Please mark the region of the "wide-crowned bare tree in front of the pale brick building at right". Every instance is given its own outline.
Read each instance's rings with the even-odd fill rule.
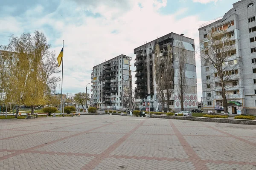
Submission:
[[[227,99],[229,98],[227,89],[233,87],[230,80],[238,74],[237,68],[239,63],[241,64],[239,57],[233,57],[236,54],[236,40],[233,36],[233,32],[210,31],[207,33],[207,37],[200,41],[201,60],[203,59],[206,65],[212,67],[215,71],[214,77],[219,78],[215,84],[221,87],[219,94],[222,96],[225,113],[227,113]]]

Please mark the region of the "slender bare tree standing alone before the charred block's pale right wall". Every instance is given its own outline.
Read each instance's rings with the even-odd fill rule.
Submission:
[[[177,42],[177,49],[175,51],[175,57],[177,61],[177,92],[178,98],[180,99],[181,110],[184,110],[184,101],[187,90],[187,81],[186,81],[186,50],[183,45],[183,42]]]

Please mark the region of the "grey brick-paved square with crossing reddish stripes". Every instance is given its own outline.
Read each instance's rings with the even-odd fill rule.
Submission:
[[[114,115],[0,120],[0,170],[256,170],[256,126]]]

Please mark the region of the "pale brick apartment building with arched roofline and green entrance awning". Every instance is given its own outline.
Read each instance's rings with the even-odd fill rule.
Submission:
[[[230,114],[255,114],[256,111],[256,0],[240,0],[223,17],[200,26],[201,75],[204,110],[223,113],[221,80],[217,70],[204,57],[209,33],[223,32],[233,49],[223,62],[227,111]],[[209,48],[207,46],[207,48]]]

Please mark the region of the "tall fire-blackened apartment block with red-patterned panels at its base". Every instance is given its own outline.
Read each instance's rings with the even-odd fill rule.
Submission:
[[[151,111],[161,111],[162,105],[160,104],[159,95],[157,95],[157,84],[155,81],[154,73],[154,54],[155,47],[159,44],[161,55],[166,54],[168,51],[167,46],[171,47],[172,54],[172,66],[174,69],[173,89],[169,100],[169,109],[172,111],[181,111],[180,99],[178,97],[177,85],[178,85],[178,60],[177,50],[178,42],[182,42],[184,50],[186,50],[186,70],[185,77],[187,81],[186,94],[184,96],[184,110],[191,110],[197,108],[197,80],[196,80],[196,67],[195,67],[195,43],[194,40],[188,37],[184,37],[183,34],[169,33],[163,37],[159,37],[156,40],[147,42],[140,47],[134,49],[136,54],[136,74],[135,74],[135,105],[137,109],[145,110],[150,107]],[[164,109],[167,110],[167,96],[164,97]],[[149,106],[147,106],[149,104]],[[169,110],[168,109],[168,110]]]

